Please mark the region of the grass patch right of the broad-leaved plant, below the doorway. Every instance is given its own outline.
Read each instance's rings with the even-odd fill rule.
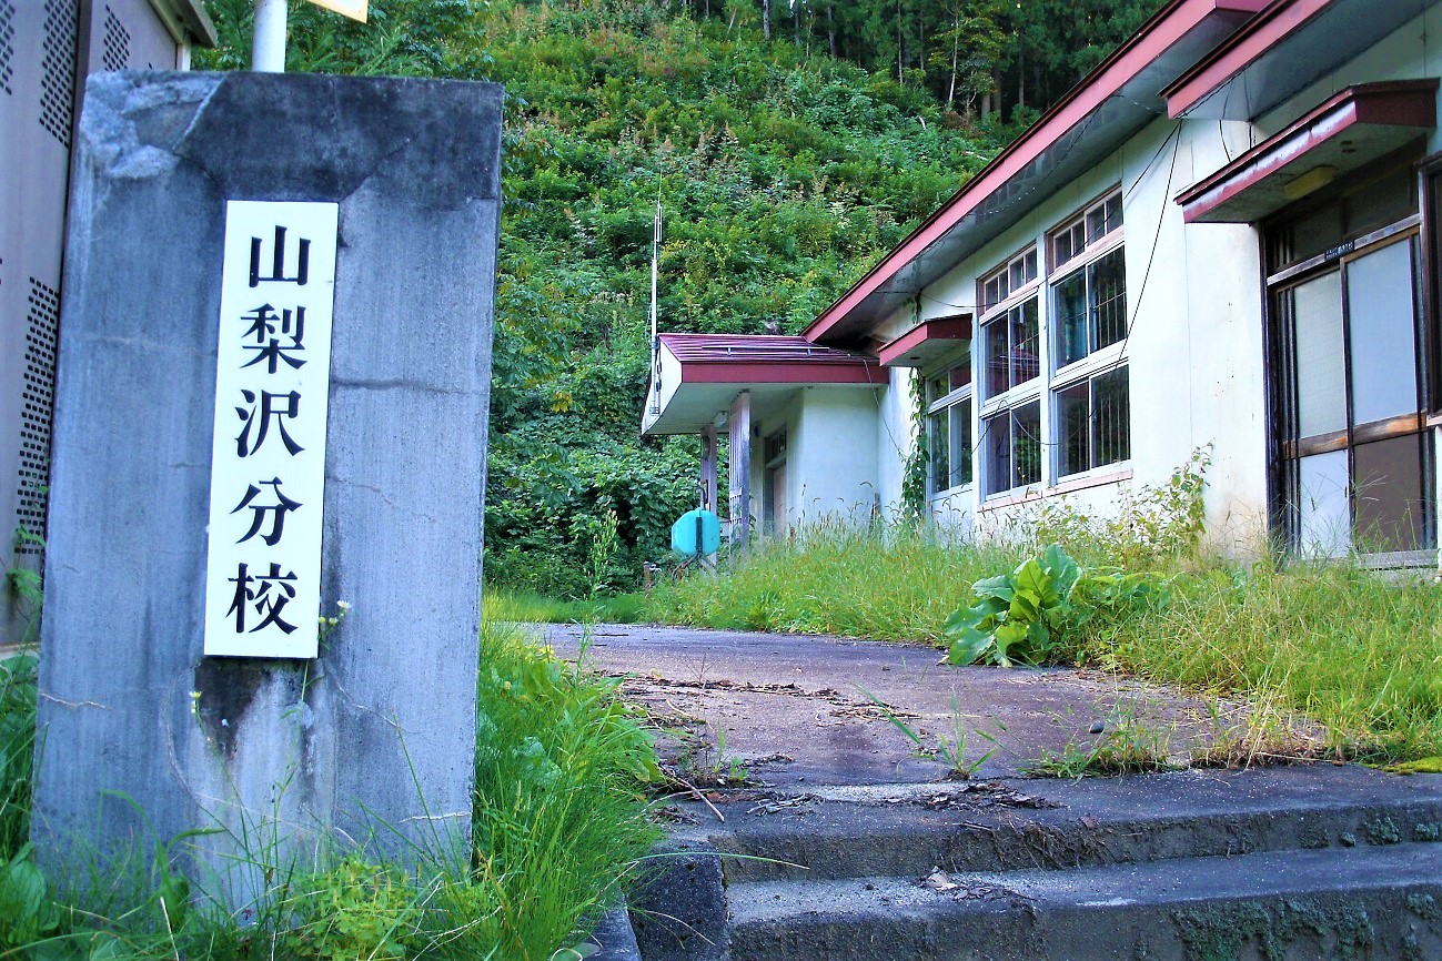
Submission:
[[[1363,759],[1442,754],[1442,586],[1348,563],[1207,560],[1076,654],[1302,712]]]

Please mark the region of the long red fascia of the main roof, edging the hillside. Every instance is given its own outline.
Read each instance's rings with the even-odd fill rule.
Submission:
[[[989,164],[943,203],[897,248],[872,267],[865,277],[813,320],[802,336],[818,340],[862,300],[891,280],[926,248],[970,213],[982,200],[999,190],[1027,164],[1060,140],[1067,131],[1122,89],[1128,81],[1155,61],[1172,43],[1195,29],[1208,14],[1227,10],[1256,13],[1268,0],[1172,0],[1142,29],[1071,88],[1035,124],[1002,150]]]

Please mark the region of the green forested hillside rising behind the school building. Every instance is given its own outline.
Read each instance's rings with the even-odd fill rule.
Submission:
[[[658,199],[663,330],[795,331],[1156,6],[293,10],[291,69],[506,86],[487,579],[629,586],[694,506],[696,442],[639,438]],[[212,0],[222,48],[202,65],[245,66],[249,7]]]

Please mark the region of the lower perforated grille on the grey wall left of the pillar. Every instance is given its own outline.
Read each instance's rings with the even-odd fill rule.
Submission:
[[[55,344],[61,294],[30,278],[30,316],[25,334],[25,390],[20,411],[20,475],[16,523],[45,536],[49,500],[50,415],[55,411]],[[19,553],[40,553],[42,543],[23,543]]]

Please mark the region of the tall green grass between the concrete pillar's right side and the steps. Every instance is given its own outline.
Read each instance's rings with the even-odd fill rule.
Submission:
[[[551,957],[659,837],[639,785],[660,771],[617,683],[535,650],[518,628],[486,631],[476,852],[477,880],[503,905],[502,957]]]

